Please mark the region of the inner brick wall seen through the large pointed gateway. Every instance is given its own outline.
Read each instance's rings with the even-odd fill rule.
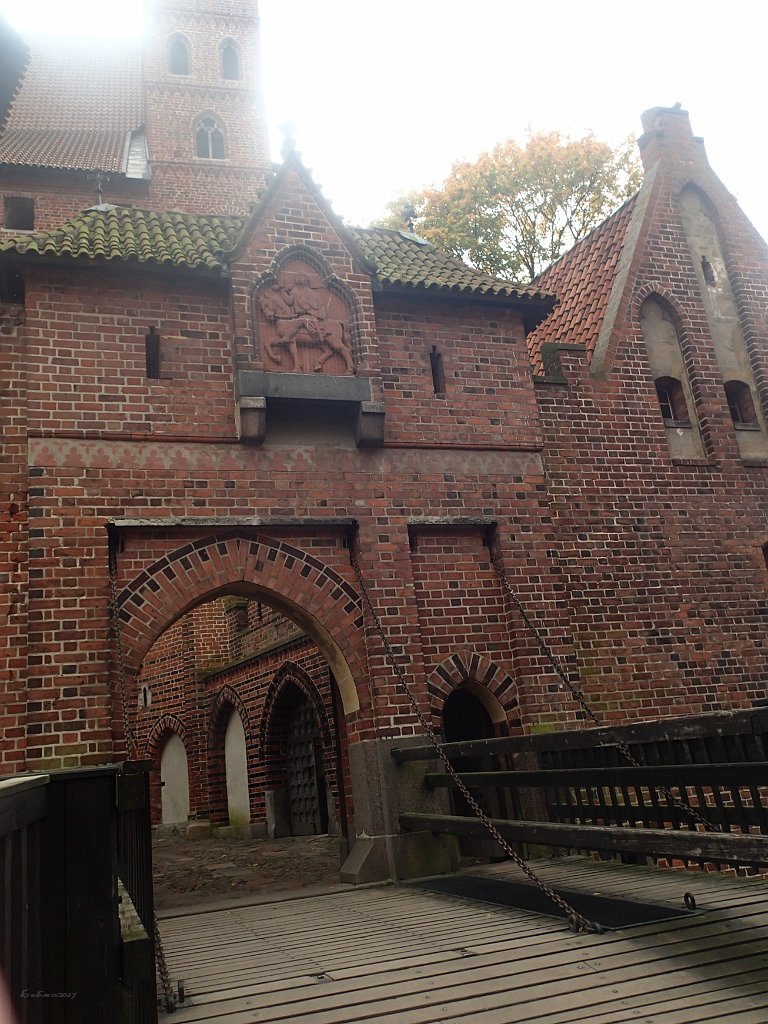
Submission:
[[[275,692],[280,692],[275,680],[281,671],[288,671],[288,665],[295,666],[295,671],[288,671],[289,678],[304,680],[308,692],[316,695],[326,773],[338,809],[337,743],[344,745],[344,730],[342,724],[337,738],[328,664],[310,640],[303,634],[296,635],[290,620],[263,605],[259,618],[257,602],[249,602],[254,625],[246,633],[247,640],[244,642],[242,635],[227,634],[226,605],[230,600],[199,605],[166,630],[148,651],[138,677],[135,712],[140,753],[153,758],[159,770],[165,741],[171,732],[180,734],[187,751],[190,811],[199,817],[210,816],[219,824],[226,823],[222,742],[224,718],[234,695],[234,707],[244,717],[249,738],[251,817],[253,822],[263,823],[264,791],[286,784],[281,768],[285,760],[284,737],[272,707]],[[281,640],[281,646],[274,649],[272,645]],[[267,649],[259,653],[262,647]],[[142,700],[144,688],[146,706]],[[154,811],[159,820],[157,785],[156,790]],[[346,790],[349,799],[348,784]]]

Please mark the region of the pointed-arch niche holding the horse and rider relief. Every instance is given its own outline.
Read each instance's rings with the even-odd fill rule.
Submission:
[[[351,296],[322,257],[291,247],[257,282],[254,340],[266,372],[354,374]]]

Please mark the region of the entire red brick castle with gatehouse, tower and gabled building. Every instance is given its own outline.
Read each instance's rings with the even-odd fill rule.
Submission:
[[[159,819],[407,864],[352,558],[449,738],[582,721],[497,565],[604,721],[764,703],[768,252],[687,114],[518,286],[270,163],[255,0],[148,18],[0,28],[4,771],[148,757]]]

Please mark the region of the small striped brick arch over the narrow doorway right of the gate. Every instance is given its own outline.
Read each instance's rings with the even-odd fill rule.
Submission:
[[[447,697],[460,686],[480,700],[495,724],[519,725],[517,685],[496,662],[472,650],[460,650],[438,665],[427,679],[429,702],[436,718],[440,717]]]

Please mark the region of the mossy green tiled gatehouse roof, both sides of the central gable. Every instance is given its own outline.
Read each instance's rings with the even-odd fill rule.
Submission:
[[[138,260],[179,267],[223,269],[245,226],[241,217],[190,213],[153,213],[104,204],[51,231],[25,231],[2,239],[0,253],[78,256],[84,259]],[[413,236],[384,228],[348,228],[349,236],[385,285],[408,285],[459,292],[528,298],[539,305],[552,297],[489,278],[444,256]]]

